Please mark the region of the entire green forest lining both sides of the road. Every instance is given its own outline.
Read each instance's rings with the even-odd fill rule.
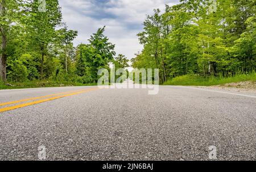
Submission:
[[[74,46],[79,33],[63,22],[57,0],[47,0],[44,12],[39,1],[0,2],[0,83],[96,84],[97,71],[109,68],[109,62],[115,68],[129,67],[125,55],[116,54],[104,36],[105,27],[88,44]],[[161,84],[187,75],[255,74],[255,3],[180,0],[164,11],[155,9],[138,33],[143,50],[131,59],[132,67],[159,68]]]

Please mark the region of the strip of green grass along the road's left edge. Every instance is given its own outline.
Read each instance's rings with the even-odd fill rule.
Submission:
[[[4,84],[0,80],[0,89],[20,89],[20,88],[42,88],[42,87],[68,87],[68,86],[89,86],[96,84],[82,84],[72,83],[70,81],[51,81],[51,80],[36,80],[26,81],[23,83],[7,82],[8,85]],[[9,85],[10,84],[10,85]]]

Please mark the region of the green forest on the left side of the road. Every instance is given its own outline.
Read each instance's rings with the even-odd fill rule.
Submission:
[[[1,0],[2,82],[93,84],[98,69],[108,68],[109,62],[119,68],[129,66],[124,55],[115,54],[115,45],[104,36],[105,27],[89,38],[89,44],[74,46],[78,32],[63,22],[59,2],[47,0],[43,12],[39,6],[39,1]]]

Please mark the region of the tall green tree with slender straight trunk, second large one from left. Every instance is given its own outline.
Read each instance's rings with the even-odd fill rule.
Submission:
[[[26,22],[27,35],[30,38],[30,46],[40,51],[40,75],[44,78],[44,62],[48,54],[49,46],[54,42],[57,36],[55,28],[61,25],[61,10],[57,0],[48,0],[46,3],[46,12],[38,11],[38,1],[33,1],[28,7],[28,20]]]

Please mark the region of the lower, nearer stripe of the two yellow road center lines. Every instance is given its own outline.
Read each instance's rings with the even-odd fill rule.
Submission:
[[[98,88],[96,88],[96,89],[88,89],[88,90],[86,90],[86,91],[81,91],[81,92],[75,92],[75,93],[65,94],[65,95],[63,95],[63,96],[51,97],[51,98],[47,98],[47,99],[44,99],[44,100],[28,102],[28,103],[26,103],[26,104],[20,104],[20,105],[16,105],[16,106],[10,106],[10,107],[7,107],[7,108],[2,108],[2,109],[0,109],[0,113],[3,112],[3,111],[9,111],[9,110],[14,110],[14,109],[18,109],[18,108],[23,108],[23,107],[26,107],[26,106],[31,106],[31,105],[35,105],[35,104],[40,104],[40,103],[47,102],[47,101],[51,101],[51,100],[55,100],[55,99],[58,99],[58,98],[73,96],[73,95],[76,95],[76,94],[86,93],[86,92],[89,92],[89,91],[95,91],[95,90],[97,90],[97,89],[98,89]]]

